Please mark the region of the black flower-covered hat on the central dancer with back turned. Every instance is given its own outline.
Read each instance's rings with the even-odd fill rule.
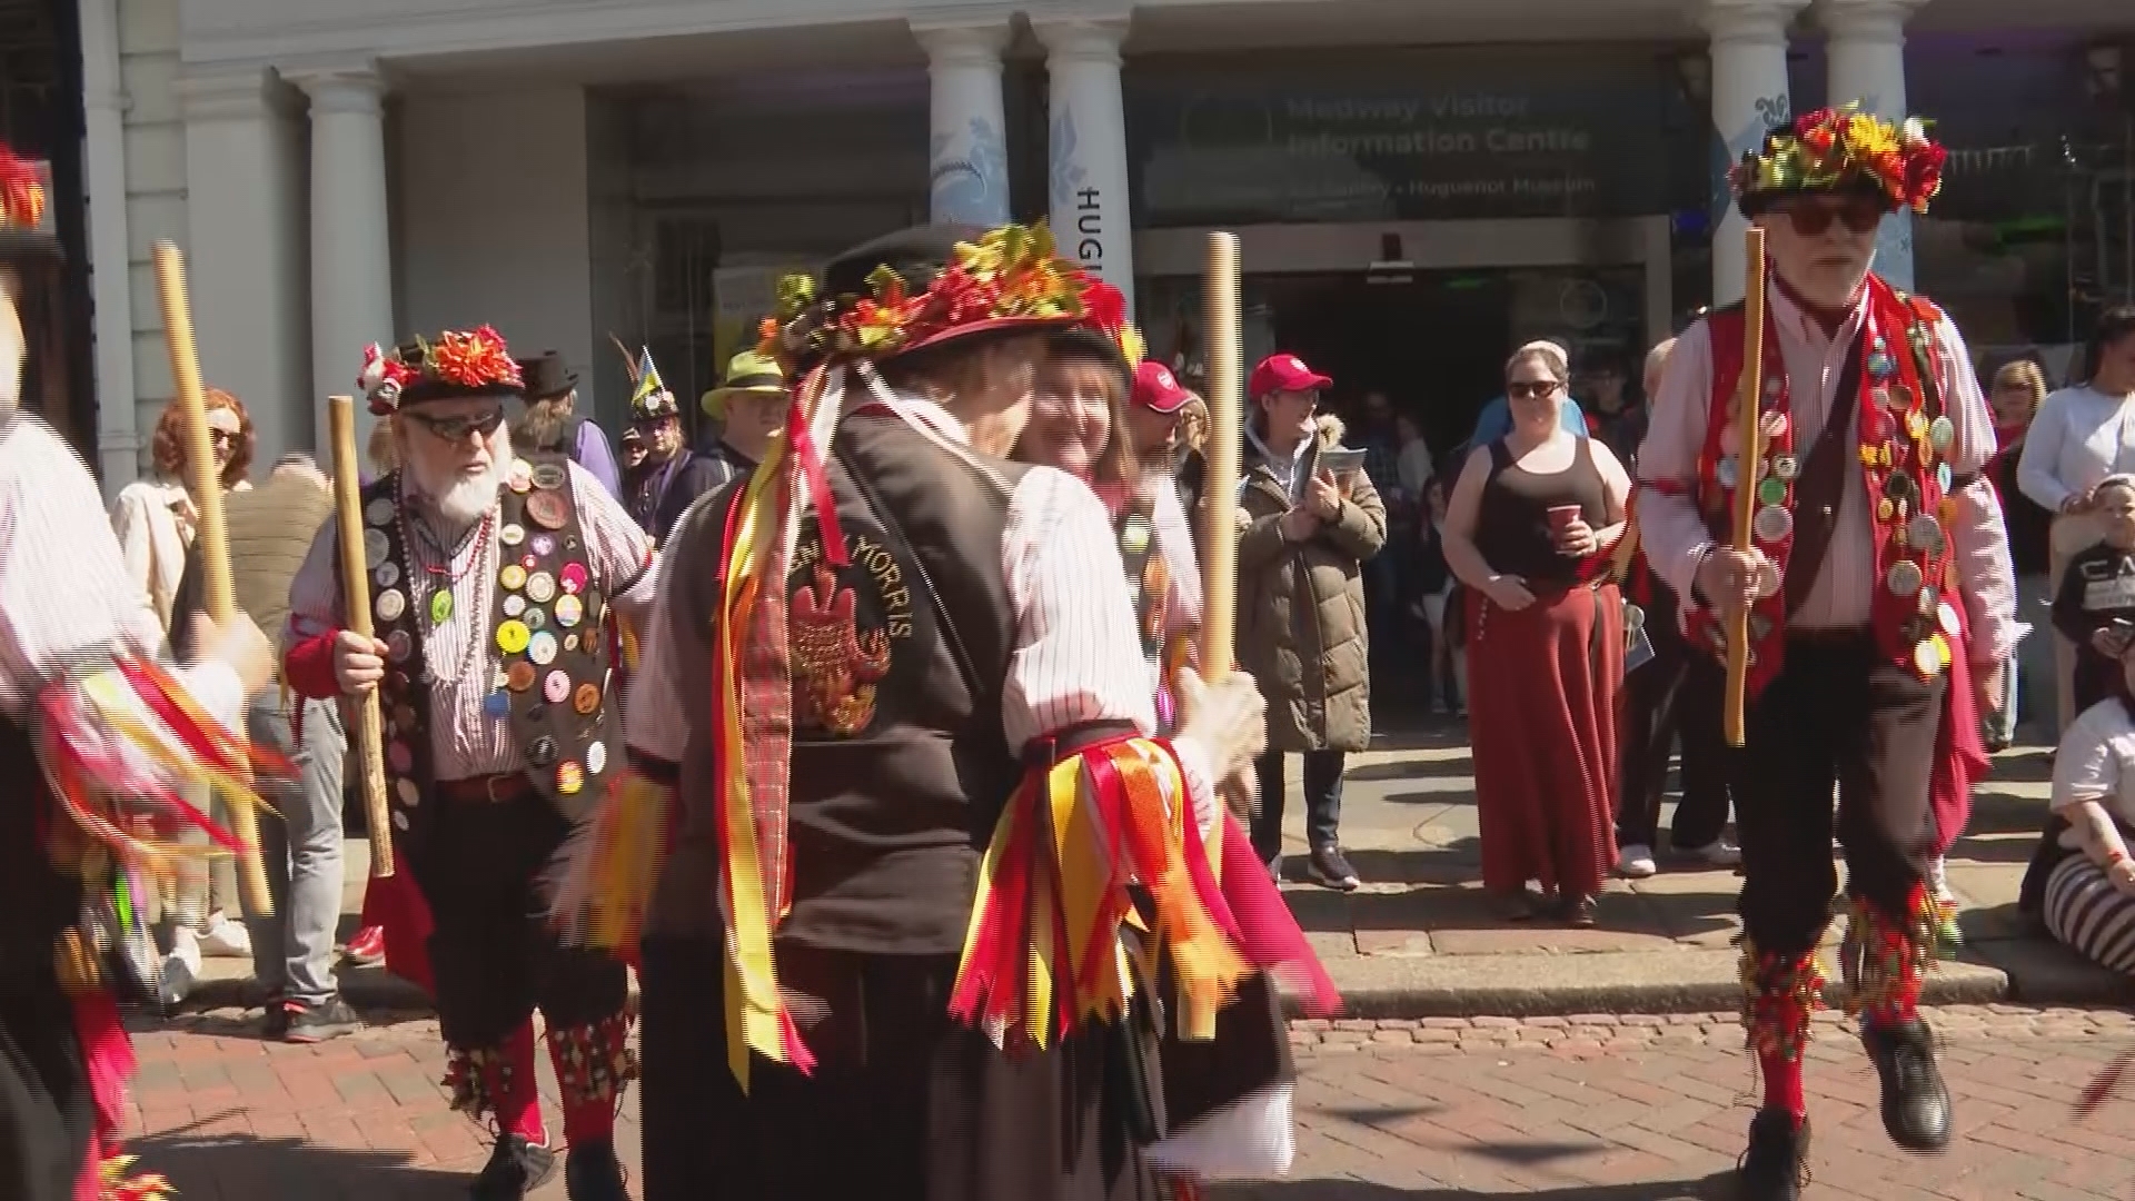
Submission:
[[[824,271],[779,280],[758,350],[792,365],[890,361],[982,333],[1076,323],[1117,329],[1125,297],[1059,259],[1044,227],[924,224],[856,246]]]

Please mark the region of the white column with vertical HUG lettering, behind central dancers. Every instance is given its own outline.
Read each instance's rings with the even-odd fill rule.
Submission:
[[[1134,227],[1127,209],[1127,109],[1119,92],[1125,19],[1033,21],[1053,77],[1053,233],[1061,252],[1127,297],[1134,314]]]

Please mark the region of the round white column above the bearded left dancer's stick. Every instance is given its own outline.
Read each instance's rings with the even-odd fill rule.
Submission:
[[[325,430],[327,397],[354,391],[363,346],[393,344],[384,79],[365,64],[297,83],[312,96],[312,402]]]

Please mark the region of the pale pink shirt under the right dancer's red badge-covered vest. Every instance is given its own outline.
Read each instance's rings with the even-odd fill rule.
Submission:
[[[1868,318],[1868,297],[1862,295],[1836,336],[1828,336],[1823,325],[1802,312],[1778,286],[1768,291],[1768,308],[1791,385],[1796,451],[1806,455],[1817,434],[1823,432],[1838,389],[1851,383],[1845,378],[1845,359]],[[1904,353],[1902,331],[1885,331],[1885,338],[1892,340],[1894,353]],[[1949,385],[1943,395],[1943,412],[1956,425],[1947,453],[1949,470],[1973,474],[1994,455],[1994,417],[1988,410],[1986,393],[1979,391],[1964,338],[1947,316],[1934,325],[1934,353],[1943,361],[1943,378]],[[1695,498],[1699,487],[1697,459],[1706,444],[1710,410],[1712,329],[1706,321],[1697,321],[1676,342],[1676,353],[1667,357],[1667,372],[1652,397],[1646,442],[1638,453],[1638,477],[1642,485],[1648,485],[1638,498],[1640,539],[1646,560],[1678,596],[1691,596],[1697,564],[1714,545]],[[1655,483],[1665,487],[1650,487]],[[1998,662],[2015,650],[2020,635],[2009,532],[1986,481],[1973,481],[1971,487],[1960,489],[1956,504],[1958,513],[1949,524],[1949,539],[1960,590],[1973,620],[1973,658]],[[1823,568],[1791,624],[1802,628],[1866,626],[1877,588],[1883,588],[1883,579],[1875,564],[1868,485],[1855,468],[1845,472],[1845,489]]]

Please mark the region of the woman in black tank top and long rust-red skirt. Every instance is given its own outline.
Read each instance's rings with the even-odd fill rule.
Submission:
[[[1512,434],[1477,447],[1445,515],[1445,562],[1467,586],[1469,737],[1484,889],[1505,917],[1544,906],[1593,925],[1614,863],[1623,600],[1608,558],[1631,481],[1601,442],[1556,419],[1567,361],[1529,344],[1505,363]]]

